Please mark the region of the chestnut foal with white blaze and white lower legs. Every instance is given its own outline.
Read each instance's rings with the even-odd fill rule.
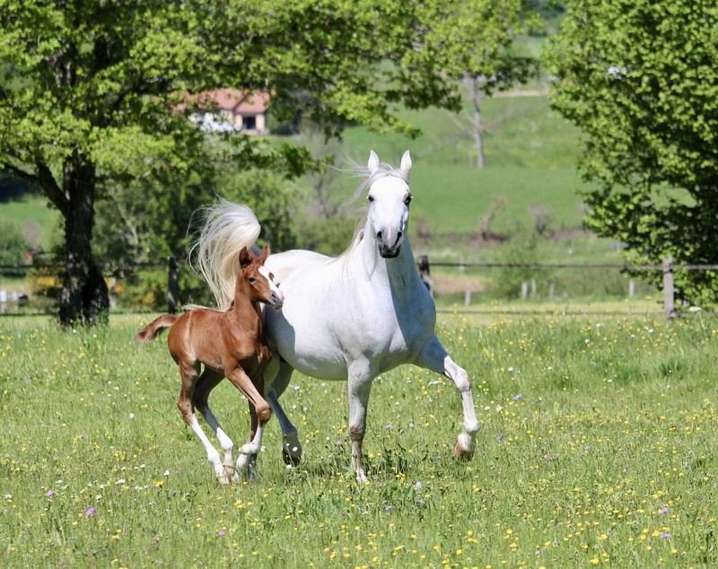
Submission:
[[[251,257],[246,247],[241,249],[241,268],[234,286],[234,301],[227,311],[196,307],[181,316],[165,314],[136,335],[140,344],[146,344],[163,328],[171,328],[167,345],[175,363],[180,366],[182,376],[177,407],[205,446],[207,459],[215,468],[221,484],[231,481],[229,473],[233,468],[234,443],[207,405],[210,392],[226,377],[249,400],[250,437],[240,449],[236,464],[238,471],[246,468],[250,455],[259,451],[262,429],[271,416],[264,398],[264,371],[272,354],[264,337],[259,302],[280,309],[284,295],[272,281],[274,276],[264,267],[268,255],[268,247],[258,258]],[[201,364],[205,369],[200,374]],[[199,409],[219,439],[224,451],[223,462],[199,426],[195,408]],[[237,479],[235,473],[232,481]]]

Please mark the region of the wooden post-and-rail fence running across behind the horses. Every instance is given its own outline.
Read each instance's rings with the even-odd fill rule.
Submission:
[[[595,264],[595,265],[578,265],[573,263],[474,263],[465,261],[439,261],[430,262],[429,258],[422,255],[418,258],[416,263],[419,274],[422,280],[425,282],[427,288],[432,291],[432,278],[431,268],[432,267],[453,267],[458,268],[460,273],[463,273],[466,269],[482,269],[482,268],[517,268],[517,269],[531,269],[531,270],[556,270],[556,269],[574,269],[574,270],[615,270],[618,272],[661,272],[663,275],[663,310],[667,318],[673,318],[675,316],[674,304],[675,304],[675,286],[674,286],[674,274],[676,271],[718,271],[718,264],[675,264],[672,259],[665,258],[661,265],[617,265],[617,264]],[[167,300],[168,310],[171,313],[175,313],[178,310],[179,298],[180,298],[180,287],[179,287],[179,272],[180,263],[176,258],[168,258],[167,261],[158,263],[121,263],[121,264],[103,264],[101,268],[106,272],[113,275],[117,275],[123,270],[136,270],[136,269],[147,269],[147,268],[167,268]],[[0,274],[15,273],[18,271],[28,272],[33,269],[39,268],[53,268],[62,269],[64,265],[61,263],[48,263],[44,265],[0,265]],[[112,297],[112,289],[114,285],[114,277],[110,278],[110,300]],[[632,295],[633,282],[629,281],[629,296]],[[535,290],[535,284],[532,287]],[[529,291],[529,284],[524,283],[522,285],[522,296],[527,297]],[[433,292],[433,291],[432,291]],[[7,293],[0,290],[0,309],[6,307],[8,300]],[[470,291],[467,290],[465,303],[470,302]]]

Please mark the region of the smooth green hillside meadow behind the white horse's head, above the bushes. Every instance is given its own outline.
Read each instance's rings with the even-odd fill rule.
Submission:
[[[468,106],[468,102],[466,103]],[[409,149],[414,160],[411,231],[419,222],[433,235],[473,234],[495,198],[506,206],[493,231],[515,234],[533,229],[530,206],[541,205],[553,217],[552,229],[582,226],[583,188],[575,171],[578,131],[548,107],[546,97],[493,98],[484,101],[486,168],[477,169],[471,136],[461,132],[448,112],[403,111],[401,118],[421,128],[416,140],[377,134],[362,127],[345,136],[347,156],[365,162],[369,150],[385,162],[398,163]],[[355,180],[343,177],[335,196],[350,195]]]

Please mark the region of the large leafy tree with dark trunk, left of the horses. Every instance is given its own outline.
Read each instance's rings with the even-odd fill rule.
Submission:
[[[60,321],[107,312],[92,240],[109,182],[189,176],[201,162],[202,134],[173,110],[187,93],[272,92],[276,118],[301,102],[328,135],[347,121],[407,130],[399,102],[458,106],[432,59],[427,15],[440,14],[403,0],[0,0],[0,169],[65,220]],[[248,168],[306,165],[288,147],[239,144]]]

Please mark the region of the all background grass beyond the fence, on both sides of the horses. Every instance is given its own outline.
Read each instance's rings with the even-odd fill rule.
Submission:
[[[540,87],[540,85],[538,85]],[[468,106],[468,102],[466,103]],[[401,118],[422,130],[415,140],[397,134],[377,134],[362,127],[346,131],[342,153],[365,162],[370,149],[381,159],[396,164],[407,148],[414,158],[411,185],[412,202],[410,232],[414,253],[428,255],[436,262],[478,263],[571,263],[620,264],[621,256],[615,243],[600,240],[581,232],[582,200],[576,192],[582,188],[575,164],[578,132],[558,117],[548,106],[545,96],[497,97],[484,101],[486,124],[486,168],[477,169],[471,136],[462,132],[449,113],[438,109],[401,111]],[[341,175],[334,189],[334,199],[343,202],[350,197],[357,180]],[[477,241],[480,220],[486,218],[496,200],[504,206],[495,215],[491,231],[512,237],[522,243],[534,230],[536,208],[550,217],[549,232],[553,239],[541,239],[528,258],[517,258],[515,250],[495,242]],[[0,219],[26,223],[36,219],[43,228],[43,244],[48,249],[57,228],[57,213],[46,206],[42,197],[0,205]],[[351,222],[348,222],[351,223]],[[428,233],[418,239],[417,230]],[[351,227],[347,228],[347,236]],[[54,237],[58,241],[57,232]],[[348,237],[347,237],[348,239]],[[524,253],[523,257],[527,257]],[[437,301],[443,304],[460,302],[467,286],[479,293],[495,289],[496,271],[467,273],[461,283],[456,271],[435,267]],[[617,272],[609,276],[593,273],[588,276],[571,269],[562,275],[537,274],[542,280],[540,294],[547,297],[549,280],[558,297],[604,297],[617,299],[627,292],[627,281]],[[532,278],[534,276],[530,276]],[[558,279],[557,282],[556,278]],[[467,280],[468,279],[468,280]],[[446,284],[446,286],[444,286]],[[0,286],[10,291],[28,292],[22,279],[0,278]],[[512,285],[508,296],[517,297],[521,282]],[[647,290],[644,286],[642,292]],[[504,292],[475,297],[475,302],[507,298]],[[122,299],[120,299],[122,302]]]

